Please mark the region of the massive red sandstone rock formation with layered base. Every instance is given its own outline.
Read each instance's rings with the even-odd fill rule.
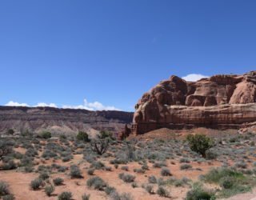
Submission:
[[[135,109],[134,134],[162,127],[239,128],[256,122],[256,71],[198,82],[171,76],[143,94]]]

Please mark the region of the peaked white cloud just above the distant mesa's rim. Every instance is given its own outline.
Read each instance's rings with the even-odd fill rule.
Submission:
[[[86,98],[82,105],[78,106],[62,106],[62,108],[86,109],[86,110],[120,110],[114,106],[104,106],[101,102],[88,102]]]

